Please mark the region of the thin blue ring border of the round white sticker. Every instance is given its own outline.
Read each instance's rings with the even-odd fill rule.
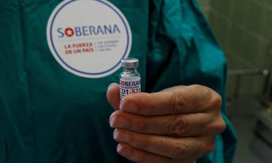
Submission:
[[[53,23],[54,23],[54,20],[57,16],[57,14],[61,11],[62,8],[64,8],[66,5],[68,5],[69,3],[71,2],[74,2],[74,1],[78,1],[78,0],[71,0],[67,3],[65,3],[64,5],[62,5],[58,10],[57,12],[55,13],[54,17],[53,17],[53,20],[52,20],[52,23],[51,23],[51,26],[50,26],[50,40],[51,40],[51,43],[52,43],[52,46],[53,46],[53,49],[55,51],[55,53],[57,54],[58,58],[61,60],[62,63],[64,63],[67,67],[69,67],[70,69],[72,69],[73,71],[76,71],[76,72],[79,72],[79,73],[82,73],[82,74],[86,74],[86,75],[100,75],[100,74],[105,74],[109,71],[112,71],[114,68],[116,68],[120,63],[121,63],[121,60],[126,56],[126,53],[127,53],[127,50],[128,50],[128,46],[129,46],[129,33],[128,33],[128,29],[127,29],[127,24],[125,23],[125,21],[123,20],[122,16],[116,11],[116,9],[114,9],[111,5],[107,4],[106,2],[103,2],[101,0],[94,0],[94,1],[97,1],[97,2],[101,2],[105,5],[107,5],[108,7],[110,7],[114,12],[117,13],[117,15],[121,18],[121,20],[123,21],[123,24],[125,25],[125,28],[126,28],[126,32],[127,32],[127,47],[126,47],[126,50],[125,50],[125,53],[124,55],[122,56],[122,58],[119,60],[119,62],[113,66],[112,68],[110,68],[109,70],[107,71],[103,71],[103,72],[99,72],[99,73],[88,73],[88,72],[83,72],[83,71],[79,71],[79,70],[76,70],[75,68],[69,66],[66,62],[64,62],[64,60],[61,58],[61,56],[57,53],[57,50],[54,46],[54,43],[53,43],[53,39],[52,39],[52,28],[53,28]]]

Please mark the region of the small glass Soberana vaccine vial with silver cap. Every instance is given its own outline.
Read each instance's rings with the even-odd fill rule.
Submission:
[[[124,58],[121,60],[121,66],[124,68],[120,74],[120,98],[131,94],[141,92],[141,76],[137,71],[139,60],[136,58]]]

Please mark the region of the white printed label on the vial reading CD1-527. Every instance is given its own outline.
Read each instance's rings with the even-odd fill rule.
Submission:
[[[120,98],[131,94],[131,93],[140,93],[141,92],[141,78],[124,80],[120,79]]]

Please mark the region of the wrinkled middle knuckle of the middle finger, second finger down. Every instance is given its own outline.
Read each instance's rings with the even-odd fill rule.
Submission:
[[[188,130],[189,130],[189,126],[186,121],[186,118],[181,115],[175,116],[174,121],[171,121],[169,123],[169,129],[168,129],[169,135],[183,136],[184,134],[188,132]]]

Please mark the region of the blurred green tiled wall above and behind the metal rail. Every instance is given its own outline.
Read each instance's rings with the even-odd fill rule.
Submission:
[[[197,0],[228,59],[229,69],[268,69],[272,61],[272,0]],[[272,49],[272,47],[271,47]],[[245,76],[241,95],[263,91],[263,76]],[[228,94],[235,78],[229,76]]]

